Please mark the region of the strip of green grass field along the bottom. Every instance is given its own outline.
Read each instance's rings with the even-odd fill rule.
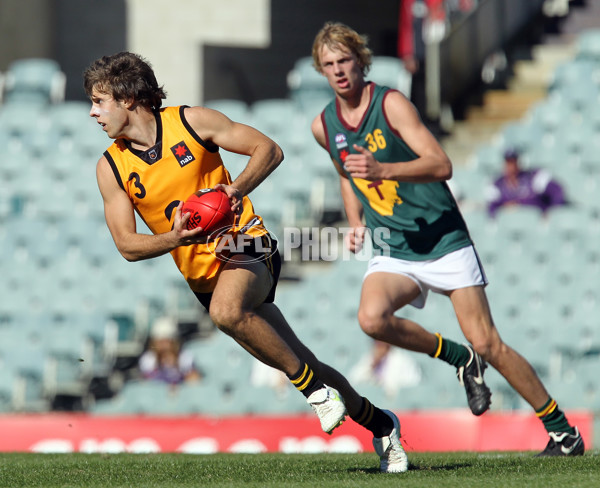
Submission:
[[[598,487],[600,453],[412,453],[403,474],[375,454],[0,454],[2,487]]]

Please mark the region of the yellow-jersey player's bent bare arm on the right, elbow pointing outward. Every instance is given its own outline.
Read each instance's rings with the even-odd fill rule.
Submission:
[[[233,188],[222,188],[232,200],[233,210],[238,209],[241,197],[252,192],[283,161],[283,151],[273,140],[216,110],[190,107],[185,110],[185,117],[202,139],[226,151],[250,156],[246,168],[232,182]]]

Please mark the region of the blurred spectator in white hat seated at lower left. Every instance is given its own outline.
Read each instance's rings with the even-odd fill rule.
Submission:
[[[152,325],[150,344],[140,357],[139,369],[146,379],[172,385],[198,381],[202,377],[193,356],[181,350],[177,323],[169,317],[161,317]]]

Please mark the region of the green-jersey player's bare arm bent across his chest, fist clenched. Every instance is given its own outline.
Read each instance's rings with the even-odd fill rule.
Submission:
[[[411,183],[448,180],[452,176],[450,159],[425,127],[412,103],[400,92],[392,92],[385,99],[384,109],[390,125],[419,157],[409,162],[382,164],[367,148],[355,145],[357,152],[346,158],[344,166],[352,177]]]

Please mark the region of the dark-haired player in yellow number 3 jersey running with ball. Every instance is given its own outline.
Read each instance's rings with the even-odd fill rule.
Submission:
[[[273,303],[281,261],[248,194],[281,163],[279,146],[256,129],[204,107],[161,108],[165,92],[150,65],[132,53],[94,61],[84,73],[90,116],[114,143],[96,168],[106,223],[128,261],[171,253],[217,327],[249,353],[284,372],[331,433],[346,414],[373,433],[380,470],[403,472],[408,460],[397,417],[361,397],[302,344]],[[249,156],[231,181],[219,149]],[[202,228],[187,230],[182,203],[203,188],[229,197],[236,230],[255,245],[222,260]],[[153,235],[137,232],[135,212]],[[339,394],[338,394],[339,392]],[[341,396],[341,398],[340,398]],[[343,400],[342,400],[343,399]]]

